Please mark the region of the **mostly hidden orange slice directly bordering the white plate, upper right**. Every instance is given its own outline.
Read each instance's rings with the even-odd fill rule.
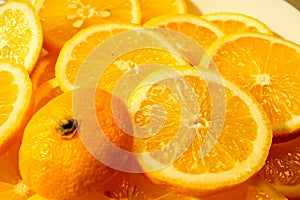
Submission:
[[[226,35],[237,32],[273,34],[270,28],[260,20],[240,13],[217,12],[201,17],[216,24]]]

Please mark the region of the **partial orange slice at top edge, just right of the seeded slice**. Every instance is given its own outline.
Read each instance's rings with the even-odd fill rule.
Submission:
[[[187,13],[187,5],[184,0],[139,0],[139,2],[142,12],[142,24],[161,15]]]

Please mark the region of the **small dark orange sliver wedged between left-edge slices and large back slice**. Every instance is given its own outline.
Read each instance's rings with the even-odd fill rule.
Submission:
[[[42,83],[55,77],[55,63],[57,55],[47,54],[36,63],[30,78],[35,91]]]

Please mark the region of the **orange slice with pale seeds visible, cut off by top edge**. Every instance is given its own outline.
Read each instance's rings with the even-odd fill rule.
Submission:
[[[37,0],[45,48],[58,51],[78,31],[107,22],[139,24],[140,5],[137,0],[70,1]]]

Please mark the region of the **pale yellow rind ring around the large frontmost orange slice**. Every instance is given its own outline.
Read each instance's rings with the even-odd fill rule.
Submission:
[[[154,80],[157,81],[160,78],[164,79],[165,73],[159,74],[160,75],[155,76]],[[188,74],[193,74],[193,71],[184,72],[184,75]],[[220,77],[217,74],[209,71],[201,72],[201,75],[206,77],[206,81],[216,83],[216,80],[220,80]],[[159,76],[161,77],[159,78]],[[264,122],[261,123],[261,126],[258,126],[257,138],[253,143],[254,148],[252,154],[247,160],[240,163],[239,166],[234,169],[221,173],[205,173],[198,175],[180,172],[175,169],[173,165],[165,166],[150,154],[140,154],[138,156],[138,161],[147,176],[154,182],[168,185],[182,193],[208,195],[243,183],[263,167],[272,143],[271,124],[266,113],[263,112],[263,108],[257,104],[251,94],[240,90],[237,86],[224,79],[222,79],[222,83],[217,83],[223,84],[226,88],[230,89],[233,95],[237,95],[247,105],[251,105],[250,110],[253,114],[253,119],[257,124]],[[134,96],[138,93],[139,92],[134,93],[130,99],[136,99]],[[139,105],[139,103],[133,104]]]

